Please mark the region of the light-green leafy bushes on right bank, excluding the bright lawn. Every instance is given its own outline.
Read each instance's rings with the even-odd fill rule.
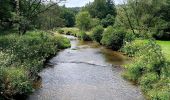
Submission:
[[[135,50],[133,46],[132,49]],[[138,51],[135,51],[134,59],[126,66],[126,69],[123,76],[139,83],[148,99],[168,100],[170,98],[169,65],[160,46],[153,40],[145,42]]]

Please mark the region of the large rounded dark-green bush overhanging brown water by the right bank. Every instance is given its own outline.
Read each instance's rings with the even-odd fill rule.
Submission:
[[[109,26],[103,33],[101,43],[113,50],[119,50],[124,44],[125,34],[122,29]]]

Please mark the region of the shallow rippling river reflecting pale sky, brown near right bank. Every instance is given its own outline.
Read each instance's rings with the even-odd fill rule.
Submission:
[[[28,100],[144,100],[140,89],[121,77],[121,53],[92,42],[71,40],[44,69],[41,87]]]

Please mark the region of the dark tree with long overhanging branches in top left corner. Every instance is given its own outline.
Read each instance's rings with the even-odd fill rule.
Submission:
[[[10,23],[18,26],[19,33],[24,34],[34,23],[38,15],[65,0],[1,0],[0,24]]]

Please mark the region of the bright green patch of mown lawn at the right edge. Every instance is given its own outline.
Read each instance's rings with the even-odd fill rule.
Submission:
[[[157,43],[162,47],[162,52],[168,61],[170,61],[170,41],[157,41]]]

